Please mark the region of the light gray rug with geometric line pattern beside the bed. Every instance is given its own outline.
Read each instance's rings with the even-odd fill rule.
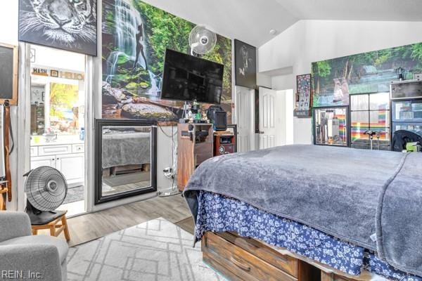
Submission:
[[[192,246],[193,235],[157,218],[70,248],[68,280],[224,280]]]

